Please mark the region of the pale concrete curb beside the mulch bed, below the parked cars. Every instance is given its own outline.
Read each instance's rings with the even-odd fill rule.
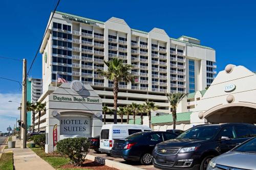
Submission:
[[[133,169],[133,170],[142,170],[142,168],[140,168],[140,167],[127,165],[127,164],[124,164],[124,163],[112,161],[112,160],[109,160],[109,159],[105,159],[105,158],[101,158],[101,157],[93,156],[93,155],[89,155],[89,154],[86,156],[86,159],[98,162],[100,164],[104,164],[104,165],[109,166],[109,167],[114,167],[114,168],[117,168],[117,169],[120,169],[120,170],[131,170],[131,169]]]

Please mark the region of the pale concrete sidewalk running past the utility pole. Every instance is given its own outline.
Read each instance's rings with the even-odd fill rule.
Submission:
[[[15,170],[55,170],[45,160],[37,156],[31,149],[21,149],[20,140],[12,137],[16,141],[16,148],[6,149],[5,152],[13,151],[13,162]]]

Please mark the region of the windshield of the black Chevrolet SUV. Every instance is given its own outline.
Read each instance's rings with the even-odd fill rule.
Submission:
[[[219,131],[219,127],[195,127],[180,134],[177,139],[201,139],[209,140]]]

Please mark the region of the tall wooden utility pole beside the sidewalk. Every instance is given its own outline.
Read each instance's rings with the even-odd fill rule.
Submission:
[[[21,148],[27,148],[27,60],[23,59]]]

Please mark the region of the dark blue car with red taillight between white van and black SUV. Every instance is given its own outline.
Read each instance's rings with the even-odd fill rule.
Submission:
[[[152,151],[159,142],[174,139],[170,132],[139,132],[123,139],[115,140],[111,156],[126,161],[140,161],[143,165],[152,164]]]

